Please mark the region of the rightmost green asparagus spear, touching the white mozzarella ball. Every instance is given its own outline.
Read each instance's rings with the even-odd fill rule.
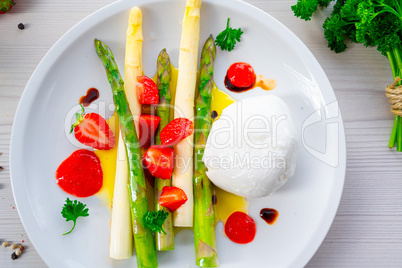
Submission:
[[[212,184],[202,162],[205,143],[211,125],[211,94],[214,86],[215,42],[212,35],[201,52],[200,83],[196,100],[195,162],[194,162],[194,246],[196,264],[201,267],[219,266],[215,241],[215,213],[212,204]]]

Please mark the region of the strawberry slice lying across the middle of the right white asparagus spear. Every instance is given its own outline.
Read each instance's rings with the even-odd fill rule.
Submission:
[[[176,145],[194,132],[194,124],[187,118],[176,118],[166,125],[161,131],[162,145]]]

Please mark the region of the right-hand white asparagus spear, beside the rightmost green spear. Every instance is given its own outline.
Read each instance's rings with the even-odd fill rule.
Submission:
[[[186,3],[175,98],[175,118],[185,117],[192,121],[194,121],[201,2],[201,0],[187,0]],[[175,146],[172,183],[173,186],[183,189],[188,198],[187,202],[173,214],[175,226],[193,226],[193,140],[194,135],[191,135]]]

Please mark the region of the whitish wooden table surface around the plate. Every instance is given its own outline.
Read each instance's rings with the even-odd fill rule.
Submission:
[[[15,0],[0,15],[0,241],[26,251],[12,261],[0,248],[0,267],[45,267],[14,209],[9,145],[18,101],[35,67],[73,25],[114,0]],[[218,1],[218,0],[217,0]],[[133,0],[133,2],[135,2]],[[348,151],[346,182],[335,221],[307,267],[402,267],[402,153],[387,147],[393,124],[384,86],[391,83],[387,59],[374,48],[350,45],[335,54],[327,48],[322,22],[293,16],[296,0],[246,0],[292,30],[312,51],[339,100]],[[25,30],[17,28],[25,24]]]

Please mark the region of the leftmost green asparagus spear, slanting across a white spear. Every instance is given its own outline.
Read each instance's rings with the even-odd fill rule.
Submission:
[[[141,165],[141,150],[138,145],[133,116],[124,94],[124,82],[110,48],[97,39],[95,39],[95,48],[99,59],[105,67],[107,78],[112,87],[113,100],[117,115],[119,116],[121,134],[127,153],[129,173],[128,188],[137,267],[158,267],[152,232],[149,228],[145,228],[144,226],[144,216],[148,212],[146,184],[144,170]]]

